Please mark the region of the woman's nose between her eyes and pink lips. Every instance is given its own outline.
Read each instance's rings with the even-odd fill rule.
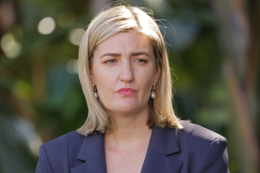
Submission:
[[[119,79],[124,82],[130,82],[134,79],[133,68],[129,60],[121,61]]]

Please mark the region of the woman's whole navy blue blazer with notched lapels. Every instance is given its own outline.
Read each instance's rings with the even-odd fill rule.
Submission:
[[[226,173],[223,136],[182,122],[182,130],[153,128],[141,173]],[[40,146],[36,173],[105,173],[104,134],[69,132]]]

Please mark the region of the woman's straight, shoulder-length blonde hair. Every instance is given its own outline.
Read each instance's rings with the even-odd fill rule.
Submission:
[[[130,5],[117,5],[97,14],[90,22],[79,46],[79,79],[85,95],[88,116],[84,125],[78,129],[83,135],[113,129],[113,122],[103,104],[94,96],[90,79],[90,70],[95,48],[105,39],[123,31],[140,32],[148,38],[154,48],[155,61],[161,70],[155,93],[150,99],[150,112],[147,120],[149,128],[169,127],[182,129],[182,125],[173,110],[172,79],[168,54],[160,27],[151,16],[151,11]]]

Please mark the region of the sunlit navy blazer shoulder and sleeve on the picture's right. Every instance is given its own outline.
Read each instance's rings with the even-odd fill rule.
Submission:
[[[184,172],[229,172],[226,138],[191,122],[182,125],[178,140]]]

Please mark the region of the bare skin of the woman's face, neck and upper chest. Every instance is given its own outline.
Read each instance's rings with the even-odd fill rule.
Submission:
[[[97,46],[91,82],[115,124],[104,136],[108,173],[141,172],[152,133],[148,100],[159,77],[153,47],[140,33],[120,32]]]

